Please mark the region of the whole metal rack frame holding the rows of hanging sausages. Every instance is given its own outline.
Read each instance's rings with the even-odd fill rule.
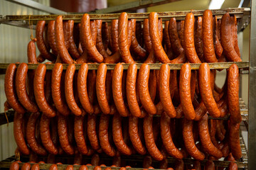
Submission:
[[[229,12],[231,14],[235,14],[238,18],[238,23],[240,28],[239,30],[242,30],[247,26],[247,21],[250,19],[250,62],[235,62],[238,64],[238,67],[242,70],[247,70],[249,69],[249,74],[250,74],[250,83],[249,83],[249,109],[247,110],[246,106],[242,101],[240,101],[240,111],[242,114],[242,120],[247,123],[247,120],[249,121],[247,123],[248,125],[248,131],[250,132],[248,135],[248,140],[249,140],[249,154],[247,157],[247,149],[245,148],[245,143],[242,139],[240,138],[240,143],[242,147],[242,153],[243,153],[243,159],[242,162],[238,162],[238,167],[239,168],[244,168],[244,169],[254,169],[256,167],[256,162],[254,159],[256,158],[256,125],[253,122],[256,120],[256,78],[255,78],[255,69],[256,69],[256,52],[254,48],[252,47],[256,45],[256,1],[252,0],[251,2],[252,9],[250,8],[228,8],[225,10],[213,10],[213,15],[217,16],[220,18],[224,13]],[[186,16],[186,14],[191,11],[176,11],[176,12],[163,12],[159,13],[159,18],[163,18],[163,21],[169,20],[171,17],[176,17],[177,20],[183,20]],[[203,10],[195,10],[193,11],[193,14],[195,16],[202,16],[203,15]],[[111,21],[112,19],[117,19],[119,16],[119,13],[114,13],[114,14],[90,14],[91,19],[102,19],[104,21]],[[149,13],[129,13],[128,14],[129,18],[136,18],[137,21],[143,21],[144,18],[147,18],[149,16]],[[80,18],[82,17],[82,14],[68,14],[64,15],[63,19],[64,20],[74,20],[76,22],[80,22]],[[9,24],[12,26],[21,26],[28,28],[28,19],[30,21],[39,21],[39,20],[54,20],[56,18],[56,15],[46,15],[46,16],[0,16],[0,23],[4,24]],[[33,22],[34,24],[36,22]],[[230,67],[231,64],[234,62],[225,62],[225,63],[209,63],[210,69],[227,69]],[[6,72],[6,67],[9,64],[6,63],[1,63],[0,64],[0,74],[5,74]],[[18,65],[18,64],[17,64]],[[88,64],[89,69],[97,69],[99,64]],[[137,64],[138,69],[142,64]],[[160,69],[161,64],[149,64],[151,69]],[[171,69],[181,69],[182,64],[169,64]],[[198,69],[200,64],[191,64],[191,69]],[[28,64],[28,69],[36,69],[38,64]],[[63,64],[63,69],[66,69],[68,64]],[[80,64],[75,64],[76,69],[80,68]],[[114,69],[115,64],[107,64],[107,69]],[[124,64],[124,69],[127,69],[129,64]],[[54,64],[46,64],[47,69],[53,69]],[[9,111],[7,112],[7,115],[9,115],[9,120],[13,118],[14,111]],[[1,115],[0,114],[0,121],[1,121]],[[226,116],[223,119],[228,119],[228,116]],[[0,123],[0,125],[2,125]],[[247,158],[248,158],[248,164],[247,164]],[[8,159],[14,160],[14,159]],[[173,158],[168,159],[169,162],[174,162]],[[186,164],[191,164],[193,162],[193,159],[184,159],[186,160]],[[206,161],[203,161],[203,163]],[[216,166],[228,166],[229,162],[223,162],[223,161],[215,161],[214,162]],[[20,163],[23,164],[23,163]],[[0,162],[0,167],[9,167],[10,162]],[[48,169],[50,167],[50,164],[41,164],[40,165],[41,169]],[[58,165],[58,168],[60,169],[65,169],[66,165]],[[88,166],[88,169],[91,170],[93,169],[94,166]],[[79,166],[74,166],[74,169],[78,169]],[[135,170],[135,169],[134,169]]]

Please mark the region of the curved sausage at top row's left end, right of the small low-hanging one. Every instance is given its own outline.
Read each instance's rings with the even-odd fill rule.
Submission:
[[[45,26],[46,21],[38,21],[36,24],[36,45],[43,57],[45,57],[47,60],[53,61],[55,60],[55,56],[46,48],[46,44],[43,40],[43,30]]]

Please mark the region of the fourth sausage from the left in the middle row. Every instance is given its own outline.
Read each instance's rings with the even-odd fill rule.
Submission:
[[[56,63],[53,67],[52,79],[51,79],[51,92],[53,97],[53,103],[58,110],[63,115],[68,115],[70,109],[65,101],[65,96],[62,94],[61,89],[63,85],[61,83],[61,77],[63,73],[63,64]]]

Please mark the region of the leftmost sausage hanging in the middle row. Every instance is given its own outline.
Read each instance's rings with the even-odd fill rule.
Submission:
[[[14,77],[16,76],[16,64],[12,63],[6,69],[6,76],[4,77],[4,92],[6,94],[7,101],[11,108],[17,113],[26,113],[25,108],[18,101],[18,96],[15,89]]]

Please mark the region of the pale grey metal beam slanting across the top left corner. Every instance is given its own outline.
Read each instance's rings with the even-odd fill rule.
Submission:
[[[50,6],[45,6],[43,4],[40,4],[36,1],[31,1],[31,0],[6,0],[6,1],[10,1],[12,3],[15,3],[15,4],[19,4],[19,5],[22,5],[22,6],[26,6],[28,8],[33,8],[33,9],[36,9],[38,11],[43,11],[43,12],[46,12],[46,13],[52,13],[52,14],[67,14],[67,12],[65,11],[61,11],[57,8],[53,8],[53,7],[50,7]]]

